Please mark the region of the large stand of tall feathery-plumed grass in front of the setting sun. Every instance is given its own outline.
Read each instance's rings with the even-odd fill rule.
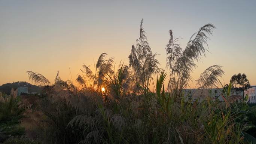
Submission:
[[[53,85],[42,74],[27,72],[33,82],[46,88],[39,109],[48,119],[49,129],[44,131],[46,137],[51,135],[48,143],[246,143],[242,133],[246,123],[235,123],[238,111],[233,111],[241,101],[234,101],[239,97],[230,95],[230,89],[222,94],[224,102],[210,96],[192,102],[183,96],[215,27],[201,27],[184,49],[170,30],[166,73],[159,68],[157,54],[152,52],[142,26],[143,19],[137,44],[132,45],[128,56],[129,66],[119,64],[115,70],[114,58],[106,59],[107,54],[102,53],[95,71],[83,64],[76,79],[80,88],[70,80],[61,80],[59,72]],[[196,85],[201,89],[216,87],[223,73],[219,65],[213,65],[201,74]]]

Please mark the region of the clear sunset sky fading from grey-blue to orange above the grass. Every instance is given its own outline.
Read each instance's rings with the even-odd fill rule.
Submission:
[[[255,7],[255,0],[0,0],[0,85],[30,82],[26,71],[53,82],[59,70],[61,79],[72,76],[74,81],[83,63],[93,69],[103,52],[107,58],[114,56],[116,65],[128,64],[142,18],[160,68],[166,66],[169,30],[183,38],[185,48],[193,33],[211,23],[216,29],[208,41],[209,52],[197,63],[193,81],[211,65],[221,65],[223,84],[245,73],[256,85]]]

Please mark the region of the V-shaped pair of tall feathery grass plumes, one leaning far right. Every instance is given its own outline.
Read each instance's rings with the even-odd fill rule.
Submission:
[[[166,45],[167,66],[170,68],[168,89],[173,92],[175,97],[181,95],[181,91],[177,91],[178,89],[181,90],[188,86],[191,72],[196,67],[195,62],[201,59],[202,55],[205,55],[204,44],[207,44],[207,35],[212,34],[214,28],[213,24],[206,24],[201,27],[197,33],[191,36],[185,49],[182,49],[177,43],[180,38],[175,39],[173,31],[169,31],[170,40]]]

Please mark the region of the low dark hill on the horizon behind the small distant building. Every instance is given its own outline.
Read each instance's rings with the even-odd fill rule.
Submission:
[[[21,83],[28,86],[28,92],[41,92],[42,91],[41,86],[32,85],[27,82],[13,82],[13,83],[6,83],[6,84],[1,85],[0,92],[3,92],[4,94],[9,95],[10,90],[12,88],[17,89],[18,85],[21,85]]]

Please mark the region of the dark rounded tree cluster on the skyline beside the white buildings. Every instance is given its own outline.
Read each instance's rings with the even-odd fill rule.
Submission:
[[[234,74],[231,77],[230,82],[232,83],[232,88],[235,89],[235,91],[244,91],[251,88],[250,82],[244,73],[238,73],[237,75]]]

